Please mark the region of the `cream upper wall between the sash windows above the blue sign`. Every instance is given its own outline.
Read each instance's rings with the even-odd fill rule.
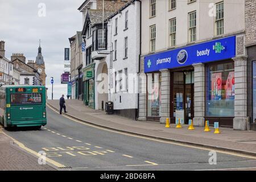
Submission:
[[[176,17],[176,47],[188,44],[188,13],[197,11],[197,41],[212,39],[214,35],[214,16],[209,16],[209,3],[222,0],[212,0],[209,3],[197,0],[187,3],[187,0],[177,0],[176,9],[168,11],[168,0],[156,0],[156,16],[150,18],[148,0],[142,0],[142,55],[150,53],[150,26],[156,24],[156,50],[165,51],[169,47],[169,20]],[[224,0],[224,35],[236,34],[245,30],[245,1]]]

